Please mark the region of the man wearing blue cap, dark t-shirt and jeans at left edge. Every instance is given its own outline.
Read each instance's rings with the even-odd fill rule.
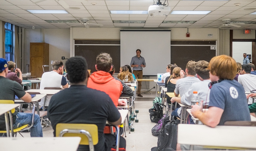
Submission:
[[[23,101],[31,102],[31,95],[25,92],[22,86],[16,82],[6,78],[8,74],[8,64],[5,59],[0,58],[0,100],[13,100],[17,95]],[[13,127],[18,128],[25,124],[31,124],[32,113],[15,112],[12,114]],[[5,130],[5,118],[4,115],[0,116],[0,130]],[[2,136],[1,134],[0,136]],[[35,114],[34,125],[30,128],[31,137],[43,137],[42,127],[40,123],[40,117]]]

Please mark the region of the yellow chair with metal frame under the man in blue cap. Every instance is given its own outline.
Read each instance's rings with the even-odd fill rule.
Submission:
[[[0,104],[14,104],[14,101],[13,101],[13,100],[0,100]],[[31,122],[31,125],[30,125],[28,128],[30,128],[30,127],[32,127],[32,126],[34,125],[35,107],[33,108],[33,111],[34,111],[34,113],[33,113],[33,117],[32,117],[32,122]],[[13,109],[11,110],[11,113],[9,112],[9,116],[10,116],[11,118],[12,118],[12,113],[14,113],[14,112],[15,112],[15,108],[13,108]],[[10,124],[13,125],[12,120],[10,121]],[[19,128],[13,129],[13,132],[16,133],[15,136],[17,136],[17,132],[21,131],[22,129],[26,128],[27,126],[28,126],[28,124],[22,125],[22,126],[19,127]],[[12,127],[11,127],[11,128],[12,128]],[[26,129],[28,129],[28,128],[26,128]],[[10,131],[11,131],[11,130],[10,130]],[[7,133],[7,130],[1,130],[0,133]],[[14,137],[14,133],[12,134],[12,137]],[[21,136],[22,136],[22,135],[21,135]]]

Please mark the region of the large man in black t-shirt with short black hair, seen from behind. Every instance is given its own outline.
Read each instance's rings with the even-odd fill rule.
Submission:
[[[79,65],[79,66],[77,66]],[[48,106],[48,118],[52,122],[53,135],[58,123],[84,123],[98,126],[98,144],[95,151],[110,151],[116,143],[116,136],[103,134],[108,121],[112,125],[121,124],[121,116],[111,98],[102,91],[87,87],[87,62],[83,57],[71,57],[66,62],[70,88],[52,96]],[[117,80],[116,80],[117,81]],[[120,137],[119,148],[125,150],[126,142]],[[79,145],[78,150],[89,151],[89,145]]]

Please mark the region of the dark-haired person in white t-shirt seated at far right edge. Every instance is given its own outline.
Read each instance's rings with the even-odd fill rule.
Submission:
[[[256,89],[256,75],[252,75],[251,70],[252,67],[250,65],[242,65],[241,75],[238,76],[238,82],[242,84],[245,92]],[[252,98],[249,98],[248,104],[252,104]]]

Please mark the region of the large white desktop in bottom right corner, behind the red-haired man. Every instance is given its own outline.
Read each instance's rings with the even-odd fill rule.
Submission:
[[[255,126],[216,126],[178,124],[179,144],[256,149]],[[193,149],[193,147],[191,148]]]

